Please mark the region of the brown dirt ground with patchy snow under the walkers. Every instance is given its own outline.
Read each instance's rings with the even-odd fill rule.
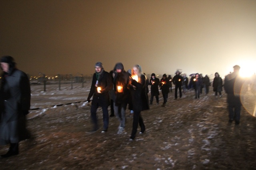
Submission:
[[[252,94],[248,96],[255,99]],[[255,101],[247,100],[246,104],[255,107]],[[134,141],[129,141],[129,110],[127,133],[118,135],[116,117],[110,117],[107,133],[101,129],[86,133],[91,129],[88,105],[55,109],[52,114],[28,119],[33,138],[20,142],[19,155],[1,158],[0,169],[256,169],[256,117],[243,107],[240,125],[228,123],[224,92],[222,98],[216,99],[210,90],[208,95],[194,99],[194,92],[189,91],[178,100],[170,92],[166,107],[155,105],[154,100],[150,110],[142,112],[146,133],[137,133]],[[102,126],[101,109],[98,118]],[[1,146],[0,154],[7,150],[8,146]]]

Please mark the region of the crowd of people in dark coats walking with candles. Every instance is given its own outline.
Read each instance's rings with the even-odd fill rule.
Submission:
[[[10,56],[1,58],[1,68],[3,70],[0,84],[0,144],[10,144],[8,152],[2,157],[9,157],[19,153],[18,143],[29,138],[26,130],[26,114],[30,109],[30,84],[27,75],[16,68],[14,59]],[[222,87],[227,93],[229,122],[240,123],[240,91],[243,80],[239,76],[240,66],[234,66],[234,72],[225,77],[224,84],[222,78],[216,72],[214,79],[210,82],[207,75],[196,73],[190,75],[190,80],[186,74],[176,70],[174,77],[163,74],[162,78],[157,78],[155,73],[150,78],[142,72],[140,65],[136,64],[131,70],[126,71],[122,63],[116,63],[110,72],[104,70],[103,64],[97,62],[94,66],[95,73],[92,77],[92,84],[88,94],[87,102],[91,101],[92,130],[89,133],[98,131],[99,123],[97,118],[98,107],[102,108],[103,129],[102,133],[108,131],[109,117],[116,116],[119,121],[118,134],[126,133],[126,109],[131,111],[133,116],[132,132],[130,140],[136,137],[138,125],[140,134],[145,133],[146,127],[141,112],[150,109],[155,97],[156,105],[159,104],[160,91],[162,92],[162,107],[167,106],[168,94],[172,92],[174,85],[174,100],[182,98],[188,90],[194,90],[195,99],[199,99],[202,89],[205,94],[209,93],[209,86],[213,87],[216,98],[222,97]],[[148,98],[148,86],[150,86],[150,98]],[[218,97],[219,96],[219,97]],[[92,100],[91,100],[92,98]],[[108,106],[111,106],[111,114],[108,114]]]

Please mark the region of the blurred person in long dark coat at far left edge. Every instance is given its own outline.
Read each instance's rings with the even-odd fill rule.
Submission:
[[[26,115],[30,109],[30,83],[28,76],[15,67],[11,56],[1,58],[3,70],[0,88],[0,144],[10,144],[2,157],[19,154],[19,142],[30,137],[26,129]]]

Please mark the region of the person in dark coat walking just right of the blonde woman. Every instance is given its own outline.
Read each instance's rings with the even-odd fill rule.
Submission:
[[[160,80],[159,78],[156,78],[156,74],[152,73],[149,80],[150,91],[151,91],[150,104],[152,104],[154,96],[156,96],[156,104],[159,104],[159,90],[158,90],[159,82]]]

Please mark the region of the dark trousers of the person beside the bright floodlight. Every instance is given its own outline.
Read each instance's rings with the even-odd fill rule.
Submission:
[[[234,96],[233,94],[228,94],[227,102],[228,102],[229,119],[239,122],[240,112],[241,112],[240,96]]]

